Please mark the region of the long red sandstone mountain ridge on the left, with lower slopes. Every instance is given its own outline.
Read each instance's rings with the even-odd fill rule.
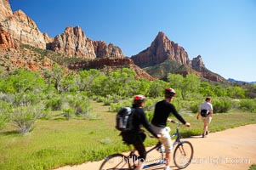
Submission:
[[[133,69],[137,77],[154,79],[139,66],[134,65],[132,59],[125,58],[121,48],[112,43],[106,44],[103,41],[89,39],[79,26],[68,26],[62,34],[48,37],[48,34],[41,32],[37,24],[22,10],[13,12],[9,0],[0,0],[0,6],[0,63],[5,65],[7,70],[26,67],[31,71],[42,71],[43,68],[54,65],[54,61],[51,59],[55,59],[55,62],[61,65],[64,63],[63,60],[68,57],[80,60],[75,65],[65,63],[65,66],[70,69],[96,68],[105,71],[107,68],[111,71],[126,66]],[[34,48],[24,45],[20,48],[21,44]],[[42,57],[37,57],[42,53],[38,53],[40,50],[36,48],[54,51],[58,57],[53,57],[53,53],[47,52],[50,56],[43,55],[42,60]],[[45,53],[43,52],[43,54]],[[81,63],[83,64],[81,65]],[[76,65],[81,67],[78,68]]]

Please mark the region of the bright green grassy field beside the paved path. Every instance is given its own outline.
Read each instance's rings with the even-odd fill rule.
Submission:
[[[1,130],[0,169],[53,169],[101,160],[111,153],[128,150],[115,129],[116,113],[110,112],[109,107],[102,103],[93,102],[92,105],[96,117],[93,120],[81,117],[69,121],[57,117],[40,120],[26,136],[20,136],[11,124]],[[181,127],[183,137],[202,133],[202,121],[197,121],[196,115],[184,117],[191,122],[191,127]],[[255,123],[256,114],[231,111],[215,114],[210,130],[213,133]],[[156,139],[147,138],[145,141],[146,145],[155,143]]]

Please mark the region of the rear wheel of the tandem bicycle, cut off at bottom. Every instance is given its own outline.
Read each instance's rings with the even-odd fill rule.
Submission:
[[[107,156],[105,161],[102,162],[100,170],[128,170],[130,169],[130,164],[127,156],[122,154],[113,154]]]

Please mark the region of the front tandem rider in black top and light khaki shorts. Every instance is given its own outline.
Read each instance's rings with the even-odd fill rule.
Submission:
[[[156,103],[154,116],[152,118],[151,124],[156,133],[160,134],[160,141],[164,145],[165,148],[165,170],[170,170],[169,160],[170,154],[173,149],[173,142],[170,137],[170,128],[167,127],[167,122],[171,122],[172,119],[169,119],[171,113],[182,122],[185,126],[190,127],[191,124],[189,122],[185,122],[182,116],[179,115],[178,111],[176,111],[174,105],[171,103],[174,100],[174,96],[176,92],[173,88],[166,88],[164,91],[165,99]]]

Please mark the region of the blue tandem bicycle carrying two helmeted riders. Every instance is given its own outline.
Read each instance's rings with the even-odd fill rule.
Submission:
[[[176,133],[171,135],[171,138],[177,137],[174,141],[173,146],[177,145],[174,149],[174,164],[179,169],[183,169],[188,167],[193,158],[194,150],[191,142],[189,141],[181,141],[179,136],[179,127],[182,125],[179,122],[172,121],[173,123],[177,123]],[[152,150],[158,150],[161,154],[160,159],[154,163],[144,165],[143,169],[148,167],[155,167],[161,164],[164,164],[164,150],[161,142],[158,142],[155,146],[153,146],[150,150],[147,150],[146,153],[150,153]],[[128,170],[134,169],[136,167],[137,157],[134,154],[134,150],[132,150],[128,156],[124,156],[123,154],[117,153],[111,156],[107,156],[105,161],[102,162],[100,166],[100,170]]]

